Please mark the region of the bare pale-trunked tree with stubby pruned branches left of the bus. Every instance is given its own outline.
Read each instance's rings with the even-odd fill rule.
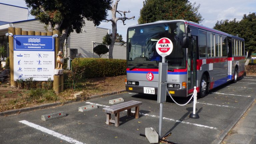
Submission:
[[[133,17],[126,17],[126,13],[129,13],[129,11],[119,11],[117,10],[117,5],[118,5],[118,2],[120,0],[116,0],[115,3],[112,2],[112,9],[111,9],[111,12],[112,12],[112,18],[111,19],[105,19],[106,21],[111,21],[112,22],[112,38],[111,38],[111,44],[109,46],[109,52],[108,52],[108,58],[113,58],[113,48],[114,48],[114,44],[115,44],[115,41],[116,41],[116,37],[117,37],[117,21],[118,20],[122,20],[123,21],[123,24],[126,25],[124,23],[125,20],[127,19],[134,19],[135,16]],[[116,13],[119,13],[121,15],[121,17],[116,17]],[[123,16],[122,14],[123,13]]]

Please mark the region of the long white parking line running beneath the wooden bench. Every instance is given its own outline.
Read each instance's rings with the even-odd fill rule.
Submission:
[[[96,103],[91,103],[91,102],[86,102],[87,104],[96,104]],[[101,104],[96,104],[97,106],[103,106],[103,107],[109,107],[106,105],[101,105]],[[126,110],[127,111],[127,110]],[[135,113],[135,111],[131,111],[132,113]],[[156,117],[159,118],[159,116],[155,116],[155,115],[150,115],[150,114],[145,114],[145,113],[139,113],[140,115],[144,115],[144,116],[150,116],[150,117]],[[206,125],[201,125],[201,124],[196,124],[196,123],[190,123],[190,122],[184,122],[184,121],[180,121],[180,120],[174,120],[171,118],[166,118],[163,117],[163,119],[169,120],[169,121],[175,121],[175,122],[179,122],[179,123],[183,123],[183,124],[189,124],[189,125],[194,125],[194,126],[198,126],[198,127],[204,127],[204,128],[209,128],[209,129],[215,129],[217,130],[218,128],[216,127],[210,127],[210,126],[206,126]]]

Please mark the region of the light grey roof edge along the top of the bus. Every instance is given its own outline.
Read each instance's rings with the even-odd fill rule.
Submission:
[[[152,24],[169,23],[169,22],[184,22],[186,25],[190,25],[190,26],[193,26],[193,27],[197,27],[199,29],[207,30],[207,31],[210,31],[210,32],[218,33],[218,34],[221,34],[221,35],[229,36],[229,37],[244,41],[243,38],[240,38],[240,37],[237,37],[237,36],[234,36],[234,35],[219,31],[219,30],[215,30],[215,29],[203,26],[203,25],[195,23],[195,22],[187,21],[187,20],[160,20],[160,21],[156,21],[156,22],[152,22],[152,23],[145,23],[145,24],[130,26],[128,28],[133,28],[133,27],[138,27],[138,26],[146,26],[146,25],[152,25]]]

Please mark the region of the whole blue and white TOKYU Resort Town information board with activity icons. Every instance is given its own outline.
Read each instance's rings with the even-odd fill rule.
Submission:
[[[55,51],[51,36],[14,35],[14,80],[53,80]]]

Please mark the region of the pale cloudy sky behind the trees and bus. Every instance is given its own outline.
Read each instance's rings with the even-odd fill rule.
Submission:
[[[134,20],[126,20],[126,25],[123,25],[121,20],[117,21],[117,33],[122,34],[124,41],[126,41],[127,28],[138,24],[143,1],[144,0],[120,0],[118,3],[117,10],[130,10],[130,13],[126,13],[126,17],[135,16]],[[244,14],[248,15],[250,12],[256,12],[256,0],[190,0],[190,2],[196,2],[196,6],[200,4],[199,13],[204,18],[200,24],[210,28],[212,28],[218,20],[233,20],[234,18],[241,20]],[[0,0],[0,3],[26,7],[24,0]],[[109,11],[108,14],[107,19],[110,19],[111,12]],[[116,16],[120,17],[121,15],[117,13]],[[33,18],[34,17],[31,15],[29,16],[29,19]],[[98,27],[112,29],[111,22],[102,22]]]

